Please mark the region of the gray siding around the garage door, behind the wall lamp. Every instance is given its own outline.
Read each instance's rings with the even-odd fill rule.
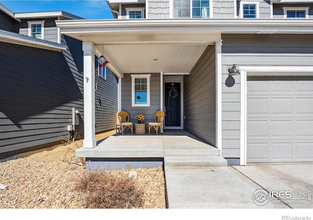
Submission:
[[[223,34],[222,46],[222,156],[240,157],[240,78],[228,83],[228,67],[312,66],[313,35]]]

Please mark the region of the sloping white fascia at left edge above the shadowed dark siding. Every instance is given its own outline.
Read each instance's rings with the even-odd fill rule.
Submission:
[[[13,32],[8,32],[4,30],[0,30],[0,42],[10,43],[10,44],[19,44],[24,46],[32,46],[36,48],[48,49],[61,51],[66,50],[65,45],[44,41],[37,38],[28,37],[21,34],[16,34]]]

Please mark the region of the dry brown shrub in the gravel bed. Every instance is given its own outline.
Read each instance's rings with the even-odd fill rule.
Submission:
[[[86,172],[76,189],[86,193],[89,208],[140,208],[143,192],[135,187],[133,177],[113,176],[108,171]]]

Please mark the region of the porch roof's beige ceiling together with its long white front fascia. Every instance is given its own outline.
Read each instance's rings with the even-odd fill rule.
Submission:
[[[127,19],[56,21],[61,33],[92,42],[116,74],[189,73],[222,33],[312,33],[312,19]],[[153,59],[157,61],[153,61]]]

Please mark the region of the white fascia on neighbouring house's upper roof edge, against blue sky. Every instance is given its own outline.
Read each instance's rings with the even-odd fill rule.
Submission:
[[[47,11],[47,12],[25,12],[15,13],[14,18],[16,19],[35,19],[35,18],[51,18],[51,17],[66,17],[74,20],[85,20],[82,17],[72,15],[64,11]]]

